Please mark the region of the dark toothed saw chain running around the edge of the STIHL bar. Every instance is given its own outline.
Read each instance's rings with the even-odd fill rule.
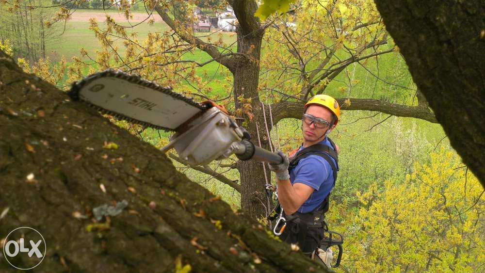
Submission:
[[[151,123],[148,123],[148,122],[139,121],[139,120],[127,117],[122,113],[106,110],[106,109],[104,109],[100,106],[97,106],[95,104],[92,104],[89,101],[86,101],[86,100],[83,100],[83,99],[80,98],[79,92],[81,91],[81,88],[85,84],[91,82],[92,80],[96,80],[96,79],[99,79],[99,78],[105,78],[105,77],[112,77],[112,78],[127,80],[127,81],[132,82],[132,83],[136,83],[136,84],[139,84],[139,85],[142,85],[142,86],[146,86],[146,87],[148,87],[152,90],[156,90],[156,91],[162,92],[163,94],[166,94],[168,96],[174,97],[178,100],[182,100],[185,103],[192,105],[192,106],[194,106],[194,107],[196,107],[200,110],[206,110],[208,108],[207,105],[195,102],[192,98],[188,98],[188,97],[185,97],[185,96],[182,96],[178,93],[173,92],[171,87],[163,87],[163,86],[158,85],[154,81],[143,80],[138,75],[129,75],[127,73],[122,72],[121,70],[115,71],[113,69],[107,69],[107,70],[104,70],[104,71],[101,71],[101,72],[97,72],[97,73],[91,74],[91,75],[83,78],[80,81],[73,82],[71,84],[71,89],[67,92],[67,95],[73,101],[82,100],[83,102],[85,102],[89,106],[95,108],[97,111],[99,111],[103,114],[112,115],[113,117],[115,117],[117,119],[123,119],[123,120],[126,120],[126,121],[131,122],[131,123],[135,123],[135,124],[139,124],[139,125],[142,125],[142,126],[155,128],[155,129],[162,129],[162,130],[165,130],[165,131],[173,131],[174,130],[174,129],[171,129],[171,128],[165,128],[165,127],[161,127],[161,126],[158,126],[158,125],[154,125],[154,124],[151,124]]]

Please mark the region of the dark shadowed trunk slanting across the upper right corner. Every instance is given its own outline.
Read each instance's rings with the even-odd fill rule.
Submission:
[[[451,145],[485,187],[485,2],[375,3]]]

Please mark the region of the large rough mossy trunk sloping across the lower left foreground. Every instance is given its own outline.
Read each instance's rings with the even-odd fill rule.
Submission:
[[[173,272],[179,255],[193,272],[324,271],[159,150],[67,98],[0,51],[0,213],[9,208],[0,241],[19,226],[39,230],[47,254],[34,271]],[[121,200],[128,207],[100,221],[109,229],[86,229],[93,208]],[[0,271],[14,268],[1,257]]]

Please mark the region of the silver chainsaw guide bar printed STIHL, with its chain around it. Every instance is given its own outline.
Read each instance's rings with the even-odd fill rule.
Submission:
[[[170,131],[208,108],[170,87],[112,69],[74,82],[67,95],[118,119]]]

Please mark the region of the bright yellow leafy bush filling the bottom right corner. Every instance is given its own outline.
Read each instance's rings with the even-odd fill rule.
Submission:
[[[343,267],[357,272],[480,272],[485,263],[485,198],[477,178],[442,149],[358,194],[362,206],[333,208],[329,222],[347,238]],[[480,269],[481,268],[481,269]]]

